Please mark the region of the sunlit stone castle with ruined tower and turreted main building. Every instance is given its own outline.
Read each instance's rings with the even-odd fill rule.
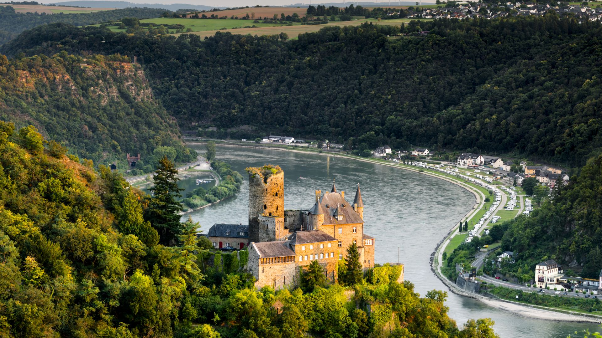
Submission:
[[[364,203],[358,188],[353,203],[332,185],[315,191],[310,209],[284,210],[284,171],[266,165],[249,172],[249,261],[256,287],[296,285],[300,268],[317,260],[337,280],[338,261],[358,245],[364,269],[374,267],[374,238],[364,233]],[[311,204],[310,204],[311,205]]]

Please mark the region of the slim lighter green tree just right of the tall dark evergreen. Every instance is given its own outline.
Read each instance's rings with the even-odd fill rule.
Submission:
[[[196,263],[196,253],[202,251],[198,245],[197,229],[199,229],[199,223],[193,222],[192,218],[188,217],[188,220],[182,224],[182,235],[178,235],[182,244],[179,247],[180,265],[184,271],[184,277],[192,281],[198,281],[203,277]]]

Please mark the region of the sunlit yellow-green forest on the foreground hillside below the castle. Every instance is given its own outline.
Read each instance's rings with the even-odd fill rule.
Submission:
[[[33,126],[0,122],[2,336],[498,337],[489,319],[459,330],[445,292],[420,298],[392,266],[341,286],[315,263],[302,288],[256,290],[247,251],[211,249],[163,203],[177,194],[167,158],[150,197],[45,143]]]

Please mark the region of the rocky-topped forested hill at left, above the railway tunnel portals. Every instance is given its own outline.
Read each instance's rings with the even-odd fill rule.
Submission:
[[[194,158],[173,118],[155,101],[141,67],[119,55],[61,52],[10,61],[0,55],[0,120],[33,124],[97,164],[125,168],[126,153],[141,153],[141,167],[152,171],[163,155],[182,162]]]

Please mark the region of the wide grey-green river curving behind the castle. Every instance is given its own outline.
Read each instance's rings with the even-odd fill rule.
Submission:
[[[204,151],[203,146],[191,147]],[[185,215],[199,222],[205,233],[214,223],[248,224],[246,167],[282,167],[287,209],[309,209],[314,203],[314,191],[330,191],[333,180],[337,190],[345,191],[346,199],[352,201],[360,183],[365,206],[364,232],[376,238],[375,262],[397,262],[399,251],[405,278],[414,283],[418,293],[424,296],[427,290],[447,290],[430,270],[430,254],[473,207],[475,198],[471,192],[424,174],[312,153],[218,146],[217,159],[243,174],[245,182],[235,197]],[[524,318],[449,291],[445,304],[459,326],[471,318],[491,318],[495,331],[503,338],[564,338],[575,331],[598,329],[593,323]]]

